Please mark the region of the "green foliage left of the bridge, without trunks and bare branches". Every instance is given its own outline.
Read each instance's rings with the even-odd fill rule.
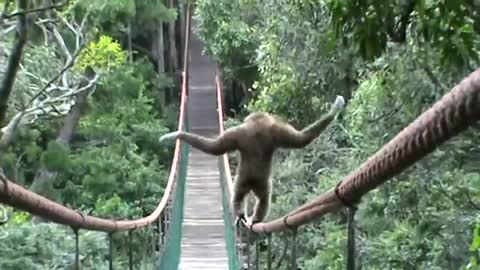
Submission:
[[[56,108],[73,105],[73,95],[65,104],[55,104],[56,108],[45,106],[38,110],[48,114],[24,118],[14,143],[0,154],[0,167],[9,179],[28,188],[34,179],[38,180],[39,171],[47,169],[46,175],[53,177],[53,185],[41,183],[48,185],[53,200],[95,216],[139,218],[157,206],[173,156],[173,146],[158,144],[158,135],[176,128],[178,116],[176,104],[164,108],[160,102],[166,88],[177,86],[167,77],[169,74],[158,74],[155,70],[151,60],[157,56],[152,57],[150,52],[154,49],[149,48],[153,37],[158,36],[160,23],[177,17],[176,9],[167,8],[164,3],[74,0],[63,10],[52,12],[52,19],[59,22],[55,26],[65,46],[72,52],[76,42],[86,46],[75,59],[74,68],[57,79],[46,91],[47,95],[40,95],[34,104],[64,95],[77,86],[87,67],[99,75],[99,82],[89,93],[69,145],[57,141],[65,119],[58,117],[62,115]],[[14,6],[12,2],[8,12],[14,12]],[[48,31],[42,31],[43,27],[50,29],[48,23],[33,24],[35,20],[43,20],[44,14],[31,15],[30,39],[9,104],[10,118],[24,109],[65,64],[64,48],[57,46],[55,37],[46,35]],[[2,30],[10,25],[5,23]],[[81,38],[75,40],[71,30],[78,31],[80,25]],[[149,48],[128,62],[127,26],[131,26],[134,46]],[[14,34],[11,31],[5,37],[6,42],[12,41]],[[4,47],[5,53],[10,54],[11,46]],[[56,85],[60,87],[53,87]],[[44,121],[37,121],[40,115]],[[30,214],[6,209],[9,220],[0,227],[0,269],[73,269],[75,239],[71,229],[33,224]],[[158,239],[155,237],[158,236],[153,227],[134,233],[131,247],[136,268],[153,269],[158,254],[145,247],[154,246],[154,239]],[[122,233],[113,236],[116,269],[128,268],[127,239]],[[82,268],[107,269],[108,235],[80,231],[80,260]]]

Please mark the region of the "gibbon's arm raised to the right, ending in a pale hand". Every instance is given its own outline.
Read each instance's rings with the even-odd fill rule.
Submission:
[[[301,131],[296,130],[288,123],[275,124],[273,131],[275,142],[279,147],[284,148],[302,148],[307,146],[335,119],[335,116],[343,109],[344,105],[345,101],[343,97],[337,96],[335,103],[332,104],[327,115]]]

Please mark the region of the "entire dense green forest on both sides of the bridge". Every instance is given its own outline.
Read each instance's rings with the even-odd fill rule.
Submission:
[[[163,194],[172,157],[157,138],[176,128],[184,1],[25,2],[35,12],[1,130],[4,174],[87,213],[144,216]],[[0,3],[4,77],[19,15],[15,1]],[[303,127],[336,95],[346,98],[346,110],[312,145],[278,155],[271,218],[335,185],[480,61],[476,0],[195,5],[195,31],[223,68],[227,125],[261,110]],[[357,214],[362,269],[480,268],[479,129],[365,197]],[[8,214],[0,269],[70,269],[71,230],[0,210]],[[301,229],[301,269],[344,268],[345,221],[338,213]],[[107,236],[80,237],[85,269],[107,269]],[[125,269],[125,238],[114,240],[115,264]],[[274,238],[274,252],[282,248]],[[155,258],[136,254],[150,269]]]

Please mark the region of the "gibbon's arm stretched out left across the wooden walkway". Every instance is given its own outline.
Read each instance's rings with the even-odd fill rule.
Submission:
[[[238,137],[243,133],[242,129],[243,126],[227,129],[217,138],[206,138],[190,132],[175,131],[163,135],[160,137],[159,141],[162,142],[169,139],[180,139],[205,153],[222,155],[238,148],[237,141]]]

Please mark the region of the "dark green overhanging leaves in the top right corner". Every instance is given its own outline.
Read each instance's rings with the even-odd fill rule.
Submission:
[[[393,40],[437,50],[445,64],[478,61],[475,1],[329,0],[327,5],[337,37],[355,44],[367,59],[381,56]]]

